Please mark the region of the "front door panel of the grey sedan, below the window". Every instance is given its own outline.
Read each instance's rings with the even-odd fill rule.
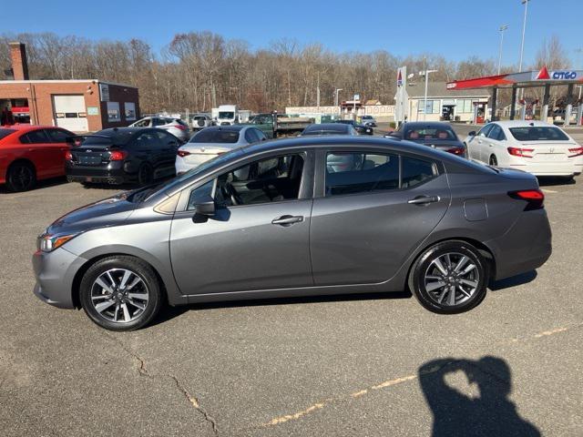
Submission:
[[[170,232],[172,269],[184,294],[308,287],[312,199],[219,208],[195,222],[177,214]],[[273,220],[302,218],[289,223]]]

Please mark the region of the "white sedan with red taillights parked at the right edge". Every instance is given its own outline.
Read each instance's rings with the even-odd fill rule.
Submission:
[[[583,168],[583,147],[560,127],[542,121],[496,121],[465,137],[468,158],[535,176],[573,178]]]

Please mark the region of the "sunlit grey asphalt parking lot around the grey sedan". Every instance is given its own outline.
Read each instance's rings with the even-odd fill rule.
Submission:
[[[583,435],[583,177],[541,185],[552,257],[468,313],[406,293],[259,300],[129,333],[32,293],[36,235],[116,190],[0,190],[1,433],[419,436],[435,418],[440,436]]]

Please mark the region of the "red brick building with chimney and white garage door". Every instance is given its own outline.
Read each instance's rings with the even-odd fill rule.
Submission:
[[[30,80],[26,46],[10,43],[12,76],[0,80],[2,122],[65,127],[74,132],[123,127],[139,117],[138,88],[85,80]],[[1,124],[1,122],[0,122]]]

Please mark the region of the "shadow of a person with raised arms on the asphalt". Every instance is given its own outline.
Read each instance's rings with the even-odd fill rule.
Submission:
[[[460,380],[463,374],[466,381]],[[508,399],[512,375],[501,358],[428,361],[419,368],[418,376],[434,416],[433,437],[541,435],[532,423],[520,417],[517,406]],[[475,389],[479,395],[466,395],[452,382],[466,386],[465,391]]]

